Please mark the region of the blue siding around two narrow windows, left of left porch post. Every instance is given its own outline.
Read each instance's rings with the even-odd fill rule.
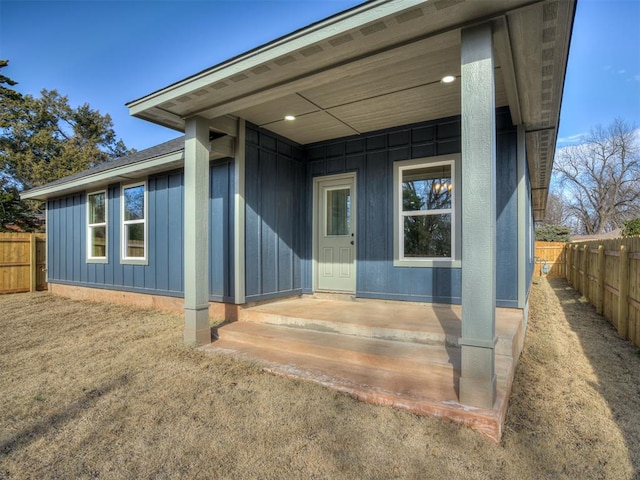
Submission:
[[[107,187],[107,262],[87,262],[86,194],[49,200],[52,283],[182,296],[183,182],[180,172],[147,180],[148,265],[120,262],[120,185]],[[55,250],[54,250],[55,249]]]

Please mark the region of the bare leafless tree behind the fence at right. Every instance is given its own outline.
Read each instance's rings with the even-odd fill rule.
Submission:
[[[640,139],[623,120],[598,126],[582,144],[560,149],[554,170],[568,223],[578,231],[600,234],[640,216]]]

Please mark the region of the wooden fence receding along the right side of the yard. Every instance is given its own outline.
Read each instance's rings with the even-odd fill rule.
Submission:
[[[567,244],[567,281],[640,347],[640,237]]]

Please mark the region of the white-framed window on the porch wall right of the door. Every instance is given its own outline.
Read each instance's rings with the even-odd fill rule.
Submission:
[[[459,266],[456,239],[458,156],[396,162],[396,266]]]

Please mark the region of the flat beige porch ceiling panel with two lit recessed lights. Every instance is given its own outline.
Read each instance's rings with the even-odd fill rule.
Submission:
[[[380,58],[382,57],[382,58]],[[448,32],[378,54],[343,75],[230,112],[300,144],[460,113],[460,35]],[[497,68],[499,70],[499,68]],[[496,106],[507,105],[497,75]],[[295,121],[286,121],[294,115]]]

